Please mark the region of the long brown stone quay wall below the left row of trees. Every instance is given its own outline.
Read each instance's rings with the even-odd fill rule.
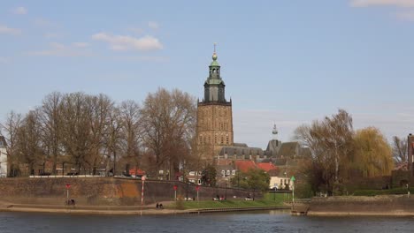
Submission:
[[[70,199],[78,205],[141,205],[142,181],[120,177],[42,177],[42,178],[0,178],[0,201],[22,204],[55,204],[65,202],[65,184],[69,188]],[[171,181],[145,181],[145,204],[173,200],[173,186],[177,185],[178,198],[196,198],[196,185]],[[262,198],[260,192],[253,194],[231,188],[200,186],[200,200],[212,199],[217,195],[227,199],[242,199],[253,196]]]

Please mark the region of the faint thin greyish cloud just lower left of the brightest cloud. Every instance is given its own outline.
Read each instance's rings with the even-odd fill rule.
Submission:
[[[73,43],[71,46],[67,46],[58,42],[50,43],[49,49],[39,51],[29,51],[29,56],[91,56],[89,51],[81,50],[80,47]],[[86,43],[85,43],[86,44]],[[78,44],[79,45],[79,44]]]

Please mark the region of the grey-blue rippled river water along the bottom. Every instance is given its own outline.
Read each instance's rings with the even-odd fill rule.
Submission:
[[[157,216],[0,213],[0,233],[414,232],[412,217],[299,217],[286,211]]]

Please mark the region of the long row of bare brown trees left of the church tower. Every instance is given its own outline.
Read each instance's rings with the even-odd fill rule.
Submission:
[[[141,104],[117,103],[105,94],[53,92],[25,115],[10,112],[0,126],[13,177],[33,175],[39,166],[46,172],[47,165],[57,174],[60,164],[79,174],[120,174],[135,167],[173,176],[191,163],[195,125],[195,98],[158,88]]]

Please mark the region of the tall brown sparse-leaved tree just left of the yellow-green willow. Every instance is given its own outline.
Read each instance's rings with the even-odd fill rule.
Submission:
[[[323,121],[302,125],[295,130],[295,138],[311,150],[311,162],[304,170],[314,191],[332,195],[334,183],[339,182],[346,170],[352,152],[352,117],[343,109]]]

